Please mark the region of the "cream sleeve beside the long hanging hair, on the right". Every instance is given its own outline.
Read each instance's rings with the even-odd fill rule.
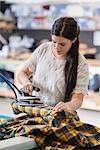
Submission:
[[[86,58],[79,55],[79,65],[77,72],[77,81],[73,93],[82,93],[83,95],[88,94],[88,83],[89,83],[89,66]]]

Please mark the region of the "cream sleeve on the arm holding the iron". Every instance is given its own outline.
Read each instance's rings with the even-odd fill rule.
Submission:
[[[43,52],[44,46],[45,46],[45,44],[41,44],[40,46],[38,46],[35,49],[35,51],[32,53],[32,55],[30,56],[30,58],[25,62],[25,65],[33,73],[36,70],[37,62],[39,61],[39,58]]]

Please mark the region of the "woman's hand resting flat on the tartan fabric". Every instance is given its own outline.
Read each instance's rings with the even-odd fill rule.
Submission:
[[[65,111],[65,112],[70,112],[72,113],[74,110],[71,107],[71,102],[59,102],[54,108],[53,108],[53,112],[61,112],[61,111]]]

